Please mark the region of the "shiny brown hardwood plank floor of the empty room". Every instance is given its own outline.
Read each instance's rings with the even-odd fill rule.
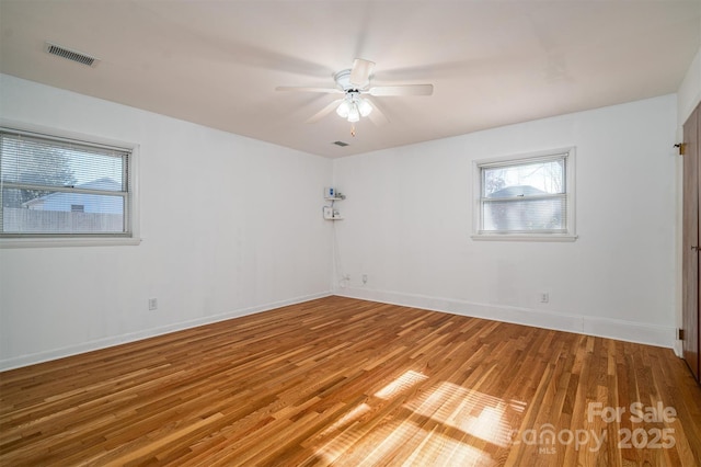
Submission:
[[[0,399],[5,466],[701,465],[668,349],[342,297],[0,373]]]

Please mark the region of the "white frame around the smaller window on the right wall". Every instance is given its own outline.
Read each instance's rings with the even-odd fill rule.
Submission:
[[[574,241],[577,239],[575,231],[575,147],[549,149],[537,152],[499,156],[479,159],[472,162],[472,236],[473,240],[506,240],[506,241]],[[493,232],[482,229],[482,169],[495,166],[516,166],[519,163],[536,162],[552,159],[555,156],[565,155],[565,193],[566,193],[566,225],[565,232]]]

